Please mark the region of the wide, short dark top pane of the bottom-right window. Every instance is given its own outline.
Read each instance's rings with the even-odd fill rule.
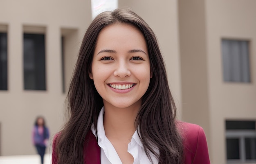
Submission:
[[[255,130],[255,121],[226,121],[227,130],[250,129]]]

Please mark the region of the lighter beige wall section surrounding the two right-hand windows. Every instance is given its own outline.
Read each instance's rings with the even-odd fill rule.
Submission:
[[[255,0],[205,1],[211,159],[216,164],[226,161],[225,120],[256,120],[255,6]],[[223,81],[222,38],[250,41],[251,83]]]

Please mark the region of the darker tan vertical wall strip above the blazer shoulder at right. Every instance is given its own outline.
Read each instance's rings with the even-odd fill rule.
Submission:
[[[205,3],[204,0],[178,2],[182,120],[203,127],[211,148]]]

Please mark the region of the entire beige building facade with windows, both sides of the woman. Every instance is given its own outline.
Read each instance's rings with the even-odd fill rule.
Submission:
[[[155,32],[178,118],[204,128],[211,162],[255,161],[256,2],[118,5],[132,8]],[[67,88],[91,13],[90,0],[0,2],[0,155],[36,153],[31,130],[38,115],[51,136],[63,126]]]

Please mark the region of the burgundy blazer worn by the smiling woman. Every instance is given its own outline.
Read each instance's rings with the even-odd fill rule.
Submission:
[[[202,127],[187,122],[179,122],[177,125],[184,140],[184,164],[210,164],[207,141]],[[86,141],[83,149],[85,164],[100,164],[101,149],[92,131],[87,134]],[[54,145],[55,143],[53,143],[52,164],[57,164]]]

